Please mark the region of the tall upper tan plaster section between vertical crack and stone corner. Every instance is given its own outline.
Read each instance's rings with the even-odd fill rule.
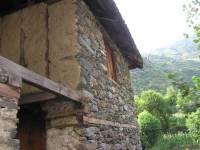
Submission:
[[[72,0],[62,0],[48,6],[50,60],[77,54],[75,10]]]

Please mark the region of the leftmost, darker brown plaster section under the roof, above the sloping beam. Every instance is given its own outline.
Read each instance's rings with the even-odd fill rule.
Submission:
[[[20,62],[21,11],[2,17],[1,55]]]

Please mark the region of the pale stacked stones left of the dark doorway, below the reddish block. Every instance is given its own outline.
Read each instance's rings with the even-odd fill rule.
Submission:
[[[17,133],[17,99],[0,96],[0,150],[19,149]]]

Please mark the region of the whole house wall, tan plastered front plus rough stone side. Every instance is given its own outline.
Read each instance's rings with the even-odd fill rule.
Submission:
[[[90,95],[83,105],[66,99],[42,104],[48,150],[140,149],[136,128],[82,120],[136,126],[128,63],[83,0],[27,7],[3,16],[0,31],[1,55]],[[116,81],[107,76],[104,37],[114,50]]]

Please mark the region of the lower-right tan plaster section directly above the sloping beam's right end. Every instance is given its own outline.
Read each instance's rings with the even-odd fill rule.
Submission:
[[[50,79],[75,89],[80,83],[80,65],[75,58],[52,61],[49,65]]]

